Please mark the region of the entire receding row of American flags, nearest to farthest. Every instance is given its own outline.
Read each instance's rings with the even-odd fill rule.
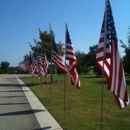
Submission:
[[[65,43],[65,61],[69,61],[69,69],[56,46],[54,36],[52,36],[52,62],[70,77],[72,85],[80,89],[80,79],[76,70],[78,62],[76,60],[67,24]],[[21,62],[19,67],[22,70],[28,70],[32,75],[34,75],[36,71],[39,78],[45,75],[46,82],[48,82],[48,61],[43,45],[41,45],[41,48],[41,53],[36,54],[33,52],[29,56],[26,55],[24,63]],[[105,14],[96,54],[96,66],[104,74],[108,82],[108,90],[113,93],[119,108],[124,108],[129,105],[129,94],[126,88],[122,59],[118,50],[118,40],[109,0],[106,0]]]

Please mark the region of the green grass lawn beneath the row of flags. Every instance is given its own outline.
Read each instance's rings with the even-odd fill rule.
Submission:
[[[64,116],[64,75],[53,75],[50,84],[44,79],[23,77],[33,93],[40,99],[64,130],[99,130],[101,111],[102,78],[96,75],[80,75],[82,89],[77,89],[66,77],[66,98]],[[42,81],[42,84],[41,84]],[[130,92],[130,76],[126,77]],[[51,94],[50,94],[51,92]],[[50,96],[51,95],[51,96]],[[130,129],[130,106],[119,109],[113,94],[107,90],[104,81],[103,130]]]

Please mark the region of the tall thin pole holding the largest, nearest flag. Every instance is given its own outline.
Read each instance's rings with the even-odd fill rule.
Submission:
[[[105,0],[105,24],[104,24],[104,50],[103,50],[103,68],[102,68],[102,95],[101,95],[101,121],[100,130],[102,130],[102,120],[103,120],[103,95],[104,95],[104,60],[106,52],[106,36],[107,36],[107,0]]]

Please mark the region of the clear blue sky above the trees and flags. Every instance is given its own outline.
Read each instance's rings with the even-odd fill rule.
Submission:
[[[110,3],[118,39],[127,44],[130,0]],[[105,0],[0,0],[0,62],[18,66],[31,50],[28,43],[40,40],[38,28],[48,31],[49,23],[56,42],[65,42],[67,23],[74,50],[88,53],[98,44],[104,10]]]

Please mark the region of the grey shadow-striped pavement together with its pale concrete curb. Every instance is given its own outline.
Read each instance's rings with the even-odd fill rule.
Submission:
[[[62,130],[18,75],[0,75],[0,130]]]

